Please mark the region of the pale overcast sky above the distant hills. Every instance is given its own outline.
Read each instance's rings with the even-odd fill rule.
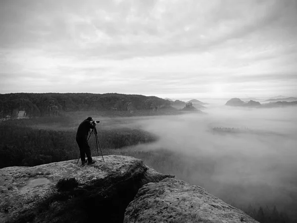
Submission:
[[[297,96],[297,0],[1,0],[16,92]]]

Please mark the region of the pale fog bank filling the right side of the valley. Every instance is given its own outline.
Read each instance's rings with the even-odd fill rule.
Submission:
[[[113,118],[110,127],[142,128],[159,139],[138,149],[167,149],[185,155],[176,162],[203,164],[177,177],[229,203],[297,210],[297,108],[207,107],[206,114]]]

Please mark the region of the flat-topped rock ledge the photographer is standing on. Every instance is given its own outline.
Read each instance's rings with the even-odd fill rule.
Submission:
[[[0,169],[0,222],[123,222],[140,187],[174,177],[132,157],[94,159],[94,165],[85,166],[70,160]]]

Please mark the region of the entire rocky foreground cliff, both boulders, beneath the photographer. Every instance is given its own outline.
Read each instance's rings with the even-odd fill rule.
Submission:
[[[94,159],[86,166],[71,160],[0,169],[0,222],[256,223],[203,188],[158,173],[142,160]]]

